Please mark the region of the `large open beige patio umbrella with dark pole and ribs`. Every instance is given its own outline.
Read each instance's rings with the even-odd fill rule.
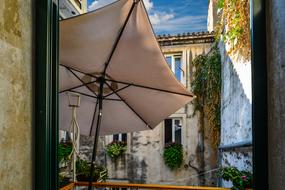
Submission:
[[[80,94],[80,132],[98,136],[153,129],[193,99],[175,78],[153,33],[143,1],[120,0],[60,22],[60,128]]]

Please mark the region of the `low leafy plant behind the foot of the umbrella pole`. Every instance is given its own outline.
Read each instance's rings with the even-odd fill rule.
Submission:
[[[90,175],[90,164],[85,160],[76,161],[76,178],[79,181],[88,181]],[[95,166],[92,173],[93,181],[106,181],[108,170],[103,166]]]

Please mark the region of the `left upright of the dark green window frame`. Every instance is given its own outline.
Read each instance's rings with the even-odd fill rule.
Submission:
[[[34,188],[58,189],[59,11],[52,0],[35,3]]]

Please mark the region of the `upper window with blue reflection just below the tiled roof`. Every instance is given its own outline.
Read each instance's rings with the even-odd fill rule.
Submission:
[[[166,61],[172,72],[175,74],[177,80],[181,81],[183,76],[181,55],[167,55]]]

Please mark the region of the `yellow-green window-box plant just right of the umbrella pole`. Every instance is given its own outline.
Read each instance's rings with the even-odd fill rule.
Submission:
[[[127,143],[123,141],[113,141],[106,146],[107,155],[113,159],[118,158],[127,150]]]

